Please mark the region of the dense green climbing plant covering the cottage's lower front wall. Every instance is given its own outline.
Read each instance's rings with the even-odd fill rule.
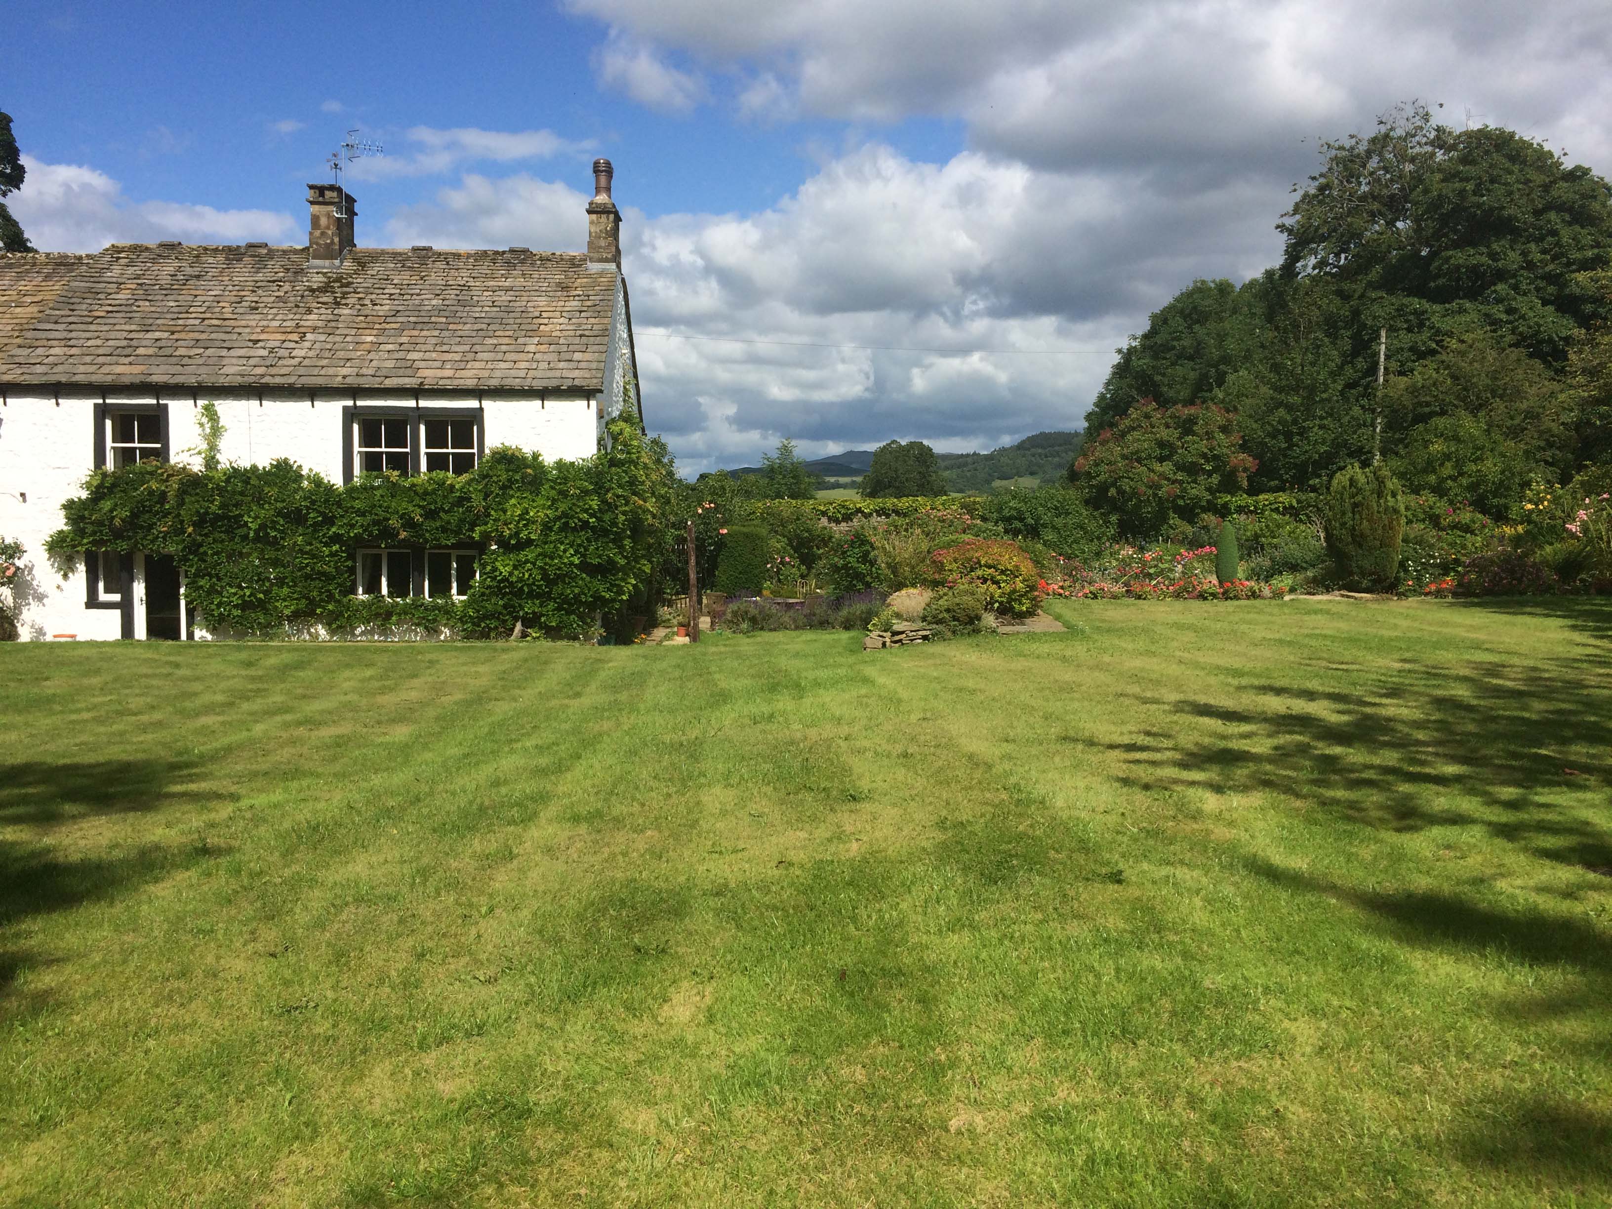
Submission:
[[[214,630],[418,627],[577,635],[658,592],[675,479],[659,440],[614,422],[611,448],[543,463],[495,448],[469,474],[366,474],[337,487],[290,461],[97,471],[47,550],[172,553]],[[359,546],[476,546],[463,601],[353,596]]]

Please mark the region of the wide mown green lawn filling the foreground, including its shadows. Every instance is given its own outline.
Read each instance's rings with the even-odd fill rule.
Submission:
[[[1612,609],[1057,611],[0,648],[0,1204],[1612,1203]]]

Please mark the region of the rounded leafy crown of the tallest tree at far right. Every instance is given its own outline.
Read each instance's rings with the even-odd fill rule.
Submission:
[[[1423,105],[1327,160],[1278,224],[1288,276],[1323,277],[1369,348],[1388,326],[1404,361],[1477,327],[1560,364],[1573,334],[1606,318],[1578,279],[1612,256],[1612,187],[1539,142],[1454,131]]]

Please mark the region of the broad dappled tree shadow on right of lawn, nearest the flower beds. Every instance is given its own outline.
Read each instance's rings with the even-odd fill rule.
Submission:
[[[1317,667],[1325,683],[1336,667]],[[1136,788],[1280,793],[1388,830],[1486,827],[1564,864],[1612,867],[1612,682],[1599,659],[1346,669],[1349,688],[1248,685],[1162,703],[1224,727],[1112,745]],[[1161,703],[1153,703],[1161,704]]]

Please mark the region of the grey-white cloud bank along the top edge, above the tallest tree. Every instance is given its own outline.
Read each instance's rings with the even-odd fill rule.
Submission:
[[[1046,168],[1149,160],[1161,172],[1259,166],[1291,181],[1304,135],[1369,127],[1412,97],[1612,160],[1606,0],[569,0],[609,40],[771,74],[801,111],[961,118],[969,140]],[[1307,168],[1306,168],[1307,171]]]

